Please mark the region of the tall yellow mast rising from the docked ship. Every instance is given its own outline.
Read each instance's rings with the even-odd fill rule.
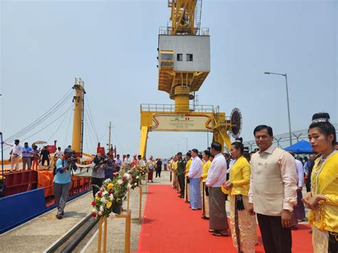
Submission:
[[[83,153],[83,109],[84,109],[84,82],[81,78],[75,78],[75,83],[73,86],[75,90],[75,95],[73,97],[74,103],[74,118],[73,118],[73,139],[71,143],[71,148],[77,155]]]

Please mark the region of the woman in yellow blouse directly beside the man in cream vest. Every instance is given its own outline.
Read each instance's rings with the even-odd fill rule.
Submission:
[[[243,156],[242,138],[231,144],[231,156],[235,164],[230,170],[230,180],[223,187],[230,195],[230,227],[232,242],[238,252],[255,252],[257,223],[249,213],[250,163]]]

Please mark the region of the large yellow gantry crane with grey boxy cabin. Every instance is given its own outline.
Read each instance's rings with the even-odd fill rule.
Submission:
[[[140,155],[151,131],[210,132],[230,149],[230,117],[218,106],[190,105],[210,73],[210,36],[200,28],[202,0],[168,0],[171,26],[158,35],[158,90],[175,105],[140,105]]]

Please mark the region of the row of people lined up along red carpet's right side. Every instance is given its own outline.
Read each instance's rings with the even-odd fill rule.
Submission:
[[[305,207],[314,252],[338,252],[338,145],[329,115],[312,117],[308,138],[314,153],[309,159],[275,148],[270,126],[258,125],[253,133],[259,149],[252,153],[238,138],[230,154],[222,154],[222,145],[214,142],[203,153],[193,149],[185,158],[175,155],[168,167],[178,197],[191,210],[202,211],[212,235],[227,237],[231,231],[238,252],[255,252],[257,222],[265,252],[291,252],[291,230],[305,220]]]

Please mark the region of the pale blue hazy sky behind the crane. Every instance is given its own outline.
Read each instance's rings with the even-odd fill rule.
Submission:
[[[263,74],[280,72],[288,75],[292,130],[307,128],[321,111],[338,123],[337,3],[203,1],[211,72],[198,92],[200,104],[220,105],[225,113],[240,108],[244,140],[262,123],[287,133],[285,79]],[[157,90],[158,29],[169,16],[166,0],[1,1],[4,138],[39,118],[81,77],[97,131],[85,128],[84,149],[93,153],[97,139],[107,143],[111,120],[118,153],[138,153],[140,103],[173,103]],[[44,130],[41,124],[29,143],[70,144],[70,120],[69,113]],[[150,133],[147,156],[185,152],[185,138],[189,149],[207,147],[207,133]]]

